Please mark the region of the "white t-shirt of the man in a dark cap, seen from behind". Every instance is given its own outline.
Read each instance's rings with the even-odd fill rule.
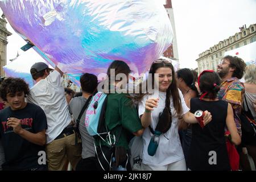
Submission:
[[[46,143],[52,142],[71,122],[68,103],[61,85],[63,78],[53,71],[30,89],[27,101],[40,106],[47,117]]]

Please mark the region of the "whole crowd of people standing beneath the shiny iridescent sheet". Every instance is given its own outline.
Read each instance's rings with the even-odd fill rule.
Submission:
[[[30,72],[35,80],[31,88],[21,78],[1,82],[5,105],[0,111],[0,170],[65,171],[69,163],[76,171],[102,170],[101,137],[92,137],[85,126],[86,109],[99,91],[97,76],[84,73],[81,96],[74,97],[73,90],[63,88],[59,68],[35,63]],[[142,139],[137,170],[255,170],[255,133],[245,138],[240,119],[242,110],[250,111],[251,126],[255,125],[255,65],[225,56],[217,72],[205,70],[197,78],[191,69],[175,72],[171,61],[159,59],[151,64],[152,79],[146,79],[154,85],[152,92],[148,87],[138,94],[117,92],[120,85],[125,90],[130,73],[124,61],[115,60],[105,80],[104,92],[114,92],[107,93],[104,121],[114,136],[109,140],[118,148],[111,156],[116,166],[110,162],[110,169],[134,169],[129,143],[134,144],[132,138],[137,136]],[[201,120],[194,114],[198,110],[203,113]],[[155,135],[157,148],[151,154],[148,146]]]

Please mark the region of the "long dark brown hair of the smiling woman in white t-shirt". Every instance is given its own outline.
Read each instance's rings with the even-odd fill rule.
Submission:
[[[154,88],[154,75],[157,69],[159,68],[171,68],[172,70],[172,83],[171,85],[168,87],[168,89],[166,90],[166,106],[168,107],[168,110],[170,110],[170,105],[171,105],[171,101],[170,98],[172,97],[172,100],[174,102],[174,108],[177,112],[178,115],[181,115],[182,113],[182,107],[181,107],[181,99],[180,99],[180,95],[179,95],[179,90],[177,88],[177,82],[175,80],[175,71],[174,71],[174,67],[172,66],[171,62],[168,63],[167,61],[160,61],[157,63],[153,63],[151,65],[149,74],[152,74],[152,86]],[[140,88],[141,88],[141,84],[140,84]],[[146,93],[141,93],[139,94],[139,96],[137,97],[137,100],[141,101],[142,97],[145,96],[146,94],[148,94],[148,92]]]

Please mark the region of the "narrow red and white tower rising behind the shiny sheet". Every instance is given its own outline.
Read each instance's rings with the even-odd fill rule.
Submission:
[[[163,56],[179,62],[179,55],[177,51],[177,38],[176,38],[176,30],[175,30],[175,22],[174,22],[174,10],[172,9],[172,1],[166,0],[166,5],[164,5],[164,8],[166,9],[167,14],[169,16],[169,19],[172,25],[172,31],[174,31],[174,42],[163,53]]]

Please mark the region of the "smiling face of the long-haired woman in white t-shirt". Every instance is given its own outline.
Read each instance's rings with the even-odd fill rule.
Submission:
[[[172,69],[171,68],[158,68],[158,69],[156,69],[155,73],[159,74],[158,75],[159,91],[166,92],[166,90],[172,83]]]

